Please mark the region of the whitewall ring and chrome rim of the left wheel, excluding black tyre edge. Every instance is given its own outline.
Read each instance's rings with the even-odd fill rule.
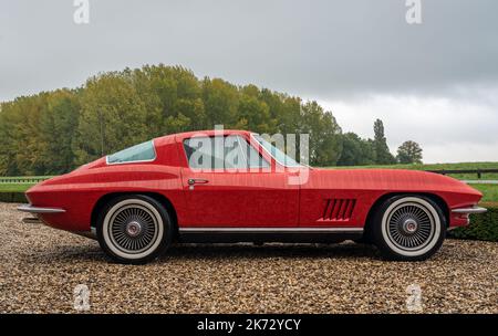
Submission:
[[[142,259],[153,253],[164,234],[159,212],[141,199],[126,199],[114,204],[102,224],[106,245],[124,259]]]

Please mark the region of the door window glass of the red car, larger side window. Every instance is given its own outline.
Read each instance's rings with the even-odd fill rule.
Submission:
[[[240,136],[194,137],[184,140],[188,166],[194,169],[247,169],[269,167]]]

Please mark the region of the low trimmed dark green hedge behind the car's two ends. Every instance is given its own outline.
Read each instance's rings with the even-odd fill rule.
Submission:
[[[0,192],[0,202],[25,203],[28,201],[23,192]],[[498,242],[498,204],[487,206],[487,208],[488,212],[471,214],[468,227],[452,230],[448,237]]]

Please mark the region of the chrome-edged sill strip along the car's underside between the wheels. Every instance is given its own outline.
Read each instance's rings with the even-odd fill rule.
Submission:
[[[179,232],[201,233],[331,233],[363,232],[363,228],[180,228]]]

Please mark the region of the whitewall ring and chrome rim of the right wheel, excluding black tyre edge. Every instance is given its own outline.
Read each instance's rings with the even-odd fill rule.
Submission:
[[[424,198],[400,198],[382,216],[382,240],[392,252],[406,258],[429,252],[438,243],[442,232],[437,210]]]

